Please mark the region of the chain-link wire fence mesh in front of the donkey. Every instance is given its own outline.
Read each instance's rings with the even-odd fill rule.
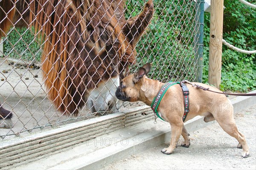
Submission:
[[[198,0],[0,0],[1,138],[140,105],[115,91],[148,62],[194,81],[199,15]]]

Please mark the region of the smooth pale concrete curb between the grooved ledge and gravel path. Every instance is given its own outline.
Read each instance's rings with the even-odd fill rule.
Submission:
[[[236,114],[242,109],[255,106],[256,97],[236,97],[231,102],[234,107],[234,114]],[[156,125],[153,122],[154,119],[152,118],[151,121],[143,121],[134,126],[119,128],[114,132],[105,133],[77,144],[68,150],[62,150],[61,153],[41,158],[15,169],[100,169],[113,161],[168,143],[171,137],[169,123],[160,121],[160,119],[157,120]],[[189,132],[192,132],[212,123],[214,122],[205,123],[203,118],[198,116],[187,121],[185,126]]]

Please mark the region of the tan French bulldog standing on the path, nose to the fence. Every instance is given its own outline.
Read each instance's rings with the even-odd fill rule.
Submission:
[[[154,97],[156,97],[165,83],[147,78],[145,75],[150,71],[150,68],[151,64],[147,63],[136,73],[122,79],[116,89],[116,97],[121,101],[143,101],[146,105],[151,106]],[[219,89],[207,84],[196,84],[221,92]],[[237,130],[230,100],[223,94],[197,89],[190,84],[186,84],[186,86],[189,89],[190,111],[186,116],[185,122],[197,115],[204,116],[205,122],[216,120],[225,132],[239,141],[237,147],[243,149],[242,157],[247,158],[250,151],[244,135]],[[183,100],[184,96],[180,84],[175,84],[166,91],[158,106],[158,114],[170,123],[172,129],[170,146],[161,150],[164,154],[173,153],[180,135],[185,140],[181,146],[189,147],[190,145],[189,134],[182,120],[184,114]]]

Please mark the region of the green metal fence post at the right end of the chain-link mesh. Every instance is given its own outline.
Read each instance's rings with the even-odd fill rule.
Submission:
[[[196,35],[195,35],[195,55],[197,58],[197,73],[195,81],[202,83],[203,76],[203,53],[204,53],[204,0],[196,2]],[[198,32],[199,30],[199,32]]]

